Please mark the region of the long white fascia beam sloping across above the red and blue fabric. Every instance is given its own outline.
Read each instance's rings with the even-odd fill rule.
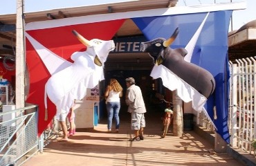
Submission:
[[[139,10],[131,12],[116,12],[102,15],[88,15],[82,17],[69,17],[47,21],[37,21],[26,24],[26,30],[37,30],[44,28],[55,28],[60,26],[71,26],[77,24],[88,24],[100,21],[110,21],[116,19],[129,19],[137,17],[152,17],[164,15],[181,15],[199,12],[214,12],[221,10],[246,9],[246,2],[220,3],[207,6],[177,6],[174,8],[159,8],[152,10]]]

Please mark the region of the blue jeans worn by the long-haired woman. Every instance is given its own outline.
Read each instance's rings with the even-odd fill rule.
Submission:
[[[116,121],[116,129],[119,129],[119,110],[120,102],[107,102],[107,129],[111,129],[113,117]]]

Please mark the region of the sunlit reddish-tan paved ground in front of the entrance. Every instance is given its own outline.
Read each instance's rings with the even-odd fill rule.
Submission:
[[[130,114],[120,113],[120,132],[107,133],[107,120],[90,131],[78,131],[68,142],[53,140],[42,154],[30,158],[23,166],[163,166],[163,165],[242,165],[228,154],[214,153],[214,147],[194,131],[173,136],[172,128],[161,138],[161,113],[145,114],[145,140],[130,142]],[[114,126],[114,123],[113,123]]]

